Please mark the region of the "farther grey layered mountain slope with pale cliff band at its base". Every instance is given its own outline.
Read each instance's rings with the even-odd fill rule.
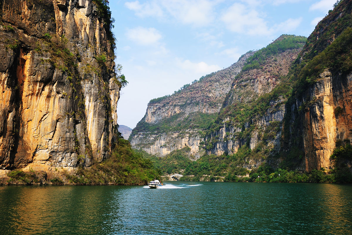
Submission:
[[[191,154],[199,158],[204,152],[199,148],[205,131],[202,125],[214,120],[234,77],[252,54],[246,53],[237,63],[205,76],[181,92],[150,102],[145,116],[132,131],[130,142],[133,148],[165,156],[189,146]]]

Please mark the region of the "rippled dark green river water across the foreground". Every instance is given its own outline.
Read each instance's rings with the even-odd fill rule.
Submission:
[[[352,185],[1,186],[0,234],[352,234]]]

